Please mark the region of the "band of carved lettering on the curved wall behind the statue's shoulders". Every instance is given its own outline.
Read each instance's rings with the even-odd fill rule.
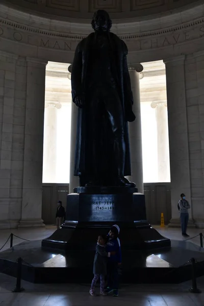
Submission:
[[[16,31],[12,28],[6,28],[3,25],[0,27],[0,37],[14,40],[17,42],[26,43],[42,48],[74,51],[78,40],[69,40],[62,37],[49,37],[42,34],[32,34],[30,32]],[[131,38],[125,39],[130,51],[148,50],[161,47],[173,46],[179,43],[204,37],[204,26],[198,25],[189,30],[177,30],[167,34],[158,34],[148,36],[147,38]]]

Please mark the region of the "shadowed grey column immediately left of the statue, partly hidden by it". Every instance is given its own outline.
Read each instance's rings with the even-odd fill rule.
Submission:
[[[72,65],[68,67],[68,79],[71,79]],[[74,176],[74,159],[75,159],[75,146],[77,136],[77,120],[78,120],[78,107],[71,103],[71,136],[70,136],[70,171],[69,171],[69,193],[79,186],[79,176]]]

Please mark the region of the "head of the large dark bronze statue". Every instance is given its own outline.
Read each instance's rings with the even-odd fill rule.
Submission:
[[[112,27],[112,21],[110,19],[109,14],[104,10],[98,10],[94,13],[92,21],[92,28],[94,31],[110,31]]]

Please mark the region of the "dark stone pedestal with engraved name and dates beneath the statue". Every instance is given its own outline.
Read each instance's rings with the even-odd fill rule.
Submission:
[[[69,194],[65,222],[42,241],[42,247],[65,251],[92,250],[97,236],[108,234],[113,224],[120,227],[123,250],[169,247],[170,240],[162,237],[146,221],[144,194],[133,189],[115,187],[113,193],[112,188],[107,187],[104,193],[93,194],[86,190],[86,193]],[[79,188],[79,191],[83,190]]]

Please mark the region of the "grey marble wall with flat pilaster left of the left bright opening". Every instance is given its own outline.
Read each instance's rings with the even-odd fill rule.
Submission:
[[[0,77],[1,84],[4,85],[3,107],[0,109],[3,123],[0,227],[16,227],[20,219],[23,219],[25,224],[27,218],[32,225],[32,215],[39,225],[42,201],[45,62],[28,58],[26,60],[4,52],[0,52],[0,55]],[[32,90],[33,88],[35,90]],[[43,108],[38,106],[40,101]]]

